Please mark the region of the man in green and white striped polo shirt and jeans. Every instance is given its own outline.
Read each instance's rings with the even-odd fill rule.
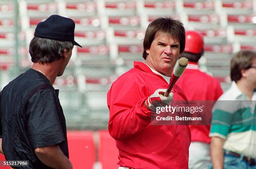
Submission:
[[[236,53],[230,77],[231,87],[212,109],[212,167],[256,169],[256,52]]]

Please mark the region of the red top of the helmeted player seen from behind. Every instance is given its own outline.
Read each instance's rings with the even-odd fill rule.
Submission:
[[[177,85],[185,93],[188,100],[218,100],[223,94],[220,82],[214,77],[198,69],[195,62],[189,62],[186,70],[177,81]],[[210,114],[211,116],[211,114]],[[192,142],[210,144],[210,124],[189,126]]]

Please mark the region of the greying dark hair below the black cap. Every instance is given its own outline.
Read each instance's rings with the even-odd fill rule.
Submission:
[[[51,63],[63,58],[64,49],[69,52],[73,48],[73,42],[50,40],[34,37],[29,44],[29,53],[33,63]]]

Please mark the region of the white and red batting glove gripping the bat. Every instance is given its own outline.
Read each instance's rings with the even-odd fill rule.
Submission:
[[[166,89],[157,89],[153,94],[151,94],[147,101],[148,107],[151,111],[155,112],[156,107],[165,107],[170,105],[173,100],[173,93],[170,92],[169,96],[164,96]]]

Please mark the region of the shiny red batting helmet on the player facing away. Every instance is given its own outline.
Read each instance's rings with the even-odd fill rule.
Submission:
[[[186,44],[184,52],[198,54],[204,47],[203,36],[195,30],[186,31]]]

